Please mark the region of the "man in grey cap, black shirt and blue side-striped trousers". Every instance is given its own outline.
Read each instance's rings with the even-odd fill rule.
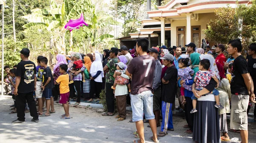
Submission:
[[[162,115],[163,121],[161,126],[161,132],[158,137],[164,137],[167,135],[167,130],[174,131],[172,123],[172,103],[175,102],[175,95],[177,91],[177,76],[178,70],[173,65],[174,56],[171,54],[165,54],[162,58],[163,64],[167,67],[167,70],[162,79]]]

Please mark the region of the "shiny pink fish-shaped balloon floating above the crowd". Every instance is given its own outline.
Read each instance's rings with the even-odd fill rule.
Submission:
[[[70,20],[69,22],[67,22],[67,24],[65,25],[65,29],[67,30],[70,30],[70,32],[73,30],[73,29],[79,29],[80,26],[83,26],[83,25],[86,25],[88,26],[87,23],[85,23],[84,21],[84,14],[82,13],[81,14],[81,17],[77,20]]]

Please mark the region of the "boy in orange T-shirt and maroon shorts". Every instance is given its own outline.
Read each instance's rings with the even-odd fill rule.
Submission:
[[[61,64],[59,66],[61,76],[58,77],[56,82],[60,84],[60,101],[63,105],[65,114],[61,115],[61,119],[70,119],[68,98],[70,95],[69,90],[69,75],[67,74],[67,64]]]

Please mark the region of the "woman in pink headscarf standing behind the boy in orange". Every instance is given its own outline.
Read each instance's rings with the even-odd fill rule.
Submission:
[[[53,68],[53,80],[54,80],[55,86],[52,88],[52,93],[54,95],[54,101],[58,101],[58,96],[60,95],[60,88],[59,88],[60,85],[56,83],[56,80],[61,75],[59,67],[61,64],[67,64],[66,57],[62,54],[58,54],[56,56],[56,60],[57,60],[57,63],[55,64],[55,66]],[[50,111],[50,112],[53,112],[53,111]]]

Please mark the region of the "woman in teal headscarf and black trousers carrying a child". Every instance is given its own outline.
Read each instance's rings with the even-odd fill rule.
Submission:
[[[195,73],[198,72],[199,70],[199,59],[200,54],[199,53],[192,53],[190,54],[190,60],[191,60],[191,65],[189,66],[192,70],[194,70],[194,76],[193,79],[195,78]],[[180,84],[187,84],[187,85],[192,85],[192,83],[189,82],[185,82],[185,81],[180,81]],[[186,121],[187,121],[187,125],[183,126],[186,128],[189,128],[188,130],[186,130],[185,132],[188,134],[192,134],[193,132],[193,126],[194,126],[194,114],[191,114],[190,111],[191,109],[193,109],[193,104],[192,104],[192,100],[191,97],[193,95],[192,91],[189,90],[184,90],[184,95],[185,95],[185,99],[186,99],[186,104],[184,104],[184,111],[185,111],[185,116],[186,116]]]

